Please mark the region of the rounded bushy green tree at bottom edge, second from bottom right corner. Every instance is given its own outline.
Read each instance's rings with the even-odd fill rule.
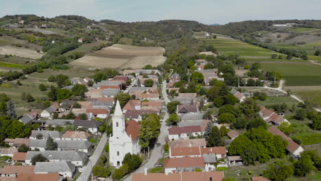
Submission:
[[[263,171],[264,175],[272,181],[284,181],[287,180],[294,173],[293,167],[286,165],[280,160],[274,164],[269,165],[268,169]]]

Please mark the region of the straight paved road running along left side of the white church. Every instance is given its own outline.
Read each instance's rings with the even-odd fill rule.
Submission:
[[[104,134],[102,138],[100,139],[95,152],[93,155],[89,158],[87,165],[82,168],[82,174],[80,174],[79,178],[77,178],[77,181],[87,181],[89,176],[91,176],[91,170],[96,165],[97,160],[99,159],[99,156],[102,154],[104,147],[107,143],[107,136]]]

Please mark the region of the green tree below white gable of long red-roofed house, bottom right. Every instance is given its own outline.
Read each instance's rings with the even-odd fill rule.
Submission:
[[[294,175],[305,177],[313,169],[313,162],[309,155],[301,156],[300,160],[294,163]]]

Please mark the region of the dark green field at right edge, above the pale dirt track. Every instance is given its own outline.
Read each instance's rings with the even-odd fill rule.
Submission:
[[[286,86],[321,86],[321,66],[315,64],[262,63],[263,71],[278,71]]]

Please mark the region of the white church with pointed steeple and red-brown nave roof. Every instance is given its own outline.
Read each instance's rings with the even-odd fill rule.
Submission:
[[[110,165],[121,167],[126,154],[139,154],[139,128],[136,121],[126,121],[117,101],[115,113],[112,116],[112,136],[109,138]]]

